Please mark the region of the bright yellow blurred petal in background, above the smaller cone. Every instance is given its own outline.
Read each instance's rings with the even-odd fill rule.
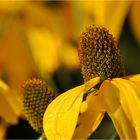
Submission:
[[[43,77],[48,76],[59,66],[59,49],[61,44],[59,39],[46,28],[28,29],[27,35],[39,72]]]

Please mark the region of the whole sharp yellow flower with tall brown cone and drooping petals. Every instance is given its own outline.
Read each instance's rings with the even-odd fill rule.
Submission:
[[[47,139],[86,139],[107,112],[121,139],[140,138],[140,74],[124,76],[114,37],[104,27],[90,26],[78,48],[85,84],[58,96],[47,107]]]

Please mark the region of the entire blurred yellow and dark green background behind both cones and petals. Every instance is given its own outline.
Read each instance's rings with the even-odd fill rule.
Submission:
[[[23,114],[25,80],[59,93],[83,83],[77,46],[90,24],[114,35],[126,75],[140,73],[139,13],[139,1],[0,1],[0,138],[39,137]],[[118,138],[107,115],[90,138]]]

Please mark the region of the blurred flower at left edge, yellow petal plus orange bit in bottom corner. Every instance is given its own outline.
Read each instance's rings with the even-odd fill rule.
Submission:
[[[21,104],[14,91],[0,80],[0,139],[3,139],[9,124],[17,124],[21,114]]]

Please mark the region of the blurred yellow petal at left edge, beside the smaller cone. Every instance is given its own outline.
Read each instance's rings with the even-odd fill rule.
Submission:
[[[17,123],[20,115],[20,108],[14,98],[10,94],[8,86],[0,81],[0,116],[9,123]]]

